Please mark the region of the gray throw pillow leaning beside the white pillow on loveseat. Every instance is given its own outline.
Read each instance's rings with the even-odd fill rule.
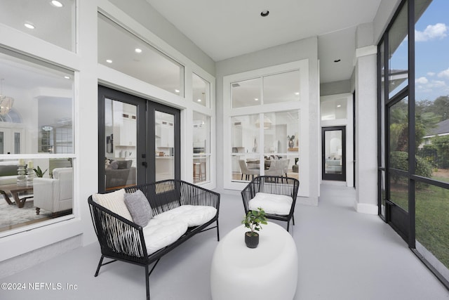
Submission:
[[[152,219],[152,207],[149,205],[147,197],[141,190],[135,193],[125,194],[125,204],[128,211],[133,217],[133,222],[139,226],[147,226],[150,219]]]

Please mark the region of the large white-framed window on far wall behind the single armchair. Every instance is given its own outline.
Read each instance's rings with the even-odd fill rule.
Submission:
[[[306,77],[301,68],[302,62],[297,62],[225,77],[229,124],[225,129],[225,138],[229,136],[225,178],[229,188],[238,189],[256,176],[301,179],[301,174],[307,174],[301,159],[302,150],[307,149],[302,131],[307,122],[302,105],[307,107],[307,102],[301,101],[307,95],[301,89]]]

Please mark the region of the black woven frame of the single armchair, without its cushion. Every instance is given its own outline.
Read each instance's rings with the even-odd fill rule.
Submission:
[[[269,210],[262,207],[267,212],[268,219],[280,220],[287,222],[287,231],[290,229],[290,219],[293,219],[293,225],[295,225],[295,204],[297,197],[297,190],[300,188],[300,181],[296,178],[281,177],[281,176],[258,176],[254,178],[246,188],[241,191],[241,197],[243,200],[243,207],[245,207],[245,213],[250,210],[250,200],[256,197],[257,193],[284,195],[291,197],[291,205],[289,204],[288,214],[274,214]],[[267,195],[269,197],[269,195]]]

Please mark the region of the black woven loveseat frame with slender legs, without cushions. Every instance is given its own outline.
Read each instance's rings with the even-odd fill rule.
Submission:
[[[102,266],[117,260],[143,266],[145,268],[147,299],[149,299],[149,275],[151,275],[163,255],[175,249],[175,247],[196,235],[196,233],[213,228],[217,228],[217,240],[220,240],[218,228],[220,194],[193,185],[192,183],[177,180],[159,181],[125,189],[126,193],[134,193],[136,190],[142,190],[142,193],[147,197],[153,217],[164,211],[187,204],[215,207],[217,209],[217,213],[210,221],[203,223],[201,226],[189,227],[187,232],[172,244],[148,254],[144,231],[141,226],[102,207],[93,200],[92,196],[88,197],[93,226],[98,237],[98,242],[100,242],[102,254],[95,272],[95,277],[98,276]],[[216,225],[209,227],[214,222],[216,222]],[[105,257],[112,259],[112,261],[103,263]],[[154,265],[149,270],[149,265],[152,263]]]

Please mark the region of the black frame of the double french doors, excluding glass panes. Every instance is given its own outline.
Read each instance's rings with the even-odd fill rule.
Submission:
[[[98,86],[98,191],[106,191],[105,181],[105,99],[117,100],[122,103],[135,105],[137,108],[137,145],[136,145],[136,170],[137,184],[152,183],[156,178],[156,156],[155,156],[155,111],[166,112],[175,118],[174,124],[174,164],[175,179],[181,178],[180,167],[180,110],[137,96]]]

